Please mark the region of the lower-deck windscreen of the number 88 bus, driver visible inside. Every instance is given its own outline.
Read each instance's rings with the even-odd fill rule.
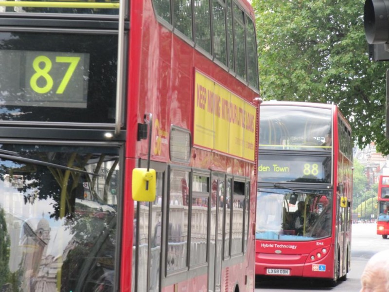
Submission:
[[[331,235],[332,192],[259,189],[256,239],[306,241]]]

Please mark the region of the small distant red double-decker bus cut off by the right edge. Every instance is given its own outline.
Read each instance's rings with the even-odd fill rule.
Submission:
[[[378,181],[377,235],[386,239],[389,235],[389,176],[380,175]]]

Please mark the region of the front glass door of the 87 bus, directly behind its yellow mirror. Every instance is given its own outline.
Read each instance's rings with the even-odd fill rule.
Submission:
[[[144,164],[144,165],[143,165]],[[146,167],[142,161],[142,167]],[[134,239],[132,262],[132,291],[160,291],[161,243],[164,202],[165,164],[151,162],[150,168],[157,172],[156,200],[153,202],[135,202]],[[166,200],[165,200],[166,201]],[[135,289],[136,288],[136,289]]]

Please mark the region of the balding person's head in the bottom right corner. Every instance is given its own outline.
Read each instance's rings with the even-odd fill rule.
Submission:
[[[372,256],[361,275],[360,292],[389,291],[389,250]]]

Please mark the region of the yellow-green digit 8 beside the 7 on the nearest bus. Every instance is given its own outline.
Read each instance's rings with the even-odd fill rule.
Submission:
[[[43,68],[39,67],[39,64],[43,63]],[[37,56],[33,61],[33,68],[35,73],[31,76],[30,86],[33,91],[37,93],[47,93],[53,88],[53,78],[50,76],[49,72],[52,69],[52,61],[46,56]],[[38,79],[43,78],[46,81],[46,85],[40,87],[38,85]]]

